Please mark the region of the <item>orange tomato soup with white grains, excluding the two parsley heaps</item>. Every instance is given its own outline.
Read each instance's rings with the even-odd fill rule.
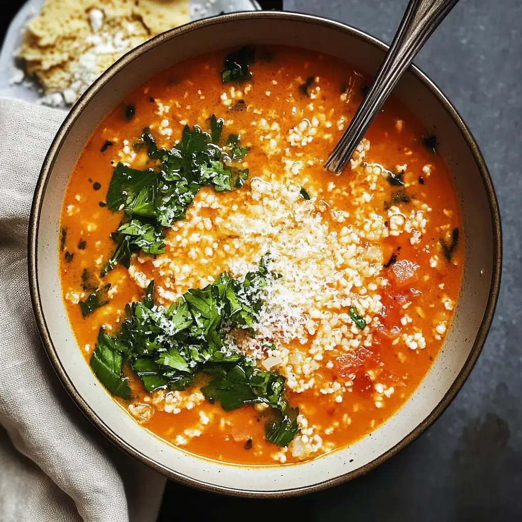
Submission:
[[[116,400],[145,429],[189,452],[277,465],[353,443],[417,388],[452,321],[462,234],[436,138],[404,105],[388,100],[335,176],[325,159],[370,78],[310,51],[255,52],[246,80],[222,82],[226,51],[199,56],[151,78],[103,118],[70,176],[60,270],[89,363],[100,327],[116,336],[126,304],[143,301],[151,281],[156,307],[167,309],[223,273],[243,284],[268,254],[254,325],[232,326],[222,339],[260,372],[284,377],[282,396],[296,423],[291,442],[266,440],[265,424],[274,418],[266,401],[226,411],[220,400],[207,400],[201,387],[212,377],[205,372],[185,389],[163,384],[147,392],[123,353],[121,378],[131,392]],[[169,150],[185,125],[210,133],[212,114],[223,119],[222,153],[232,155],[229,134],[249,148],[234,160],[234,169],[248,169],[243,186],[201,186],[185,217],[163,228],[161,253],[134,248],[128,268],[118,263],[102,277],[116,248],[111,234],[127,220],[123,205],[107,206],[115,166],[157,172],[144,128]],[[81,302],[98,289],[103,298],[85,313]]]

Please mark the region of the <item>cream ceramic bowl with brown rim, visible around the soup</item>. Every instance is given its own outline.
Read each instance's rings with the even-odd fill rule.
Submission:
[[[196,21],[126,54],[74,106],[43,164],[30,219],[31,297],[58,376],[78,406],[116,445],[168,477],[199,488],[245,496],[294,495],[369,471],[428,428],[453,400],[477,360],[499,294],[500,215],[487,167],[465,123],[433,82],[410,67],[394,94],[426,128],[436,128],[438,150],[454,177],[465,238],[464,276],[455,318],[419,388],[371,435],[303,464],[222,464],[175,448],[141,428],[97,381],[67,320],[58,276],[58,228],[67,180],[91,133],[128,91],[185,58],[245,44],[300,46],[338,56],[368,73],[376,71],[386,51],[383,43],[342,23],[257,12]]]

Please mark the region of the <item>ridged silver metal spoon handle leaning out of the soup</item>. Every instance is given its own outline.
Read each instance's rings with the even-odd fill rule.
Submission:
[[[410,0],[372,86],[325,163],[327,170],[335,174],[342,171],[402,73],[457,2],[458,0]]]

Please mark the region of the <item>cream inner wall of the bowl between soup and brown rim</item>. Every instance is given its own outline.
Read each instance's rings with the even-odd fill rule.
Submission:
[[[465,270],[455,319],[441,354],[436,358],[421,386],[392,418],[352,446],[300,465],[255,468],[227,466],[199,458],[162,442],[116,405],[86,364],[70,328],[62,303],[58,276],[58,227],[62,199],[70,172],[90,134],[103,116],[126,92],[156,72],[214,48],[246,43],[297,45],[339,56],[358,69],[372,73],[384,52],[331,25],[304,19],[235,19],[220,25],[184,29],[124,66],[109,73],[111,81],[99,91],[87,94],[89,104],[77,115],[63,140],[41,201],[37,239],[37,276],[41,310],[52,346],[67,378],[94,416],[120,439],[131,453],[177,478],[213,489],[232,492],[274,494],[300,490],[334,480],[369,464],[399,444],[423,424],[437,408],[468,359],[477,336],[490,290],[493,272],[494,233],[487,192],[476,161],[452,117],[429,87],[414,74],[401,79],[395,96],[420,118],[427,128],[436,126],[440,152],[455,177],[455,186],[464,215]],[[81,103],[81,102],[80,102]],[[73,110],[73,114],[75,111]]]

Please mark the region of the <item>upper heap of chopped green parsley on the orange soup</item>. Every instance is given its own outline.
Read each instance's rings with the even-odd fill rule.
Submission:
[[[250,148],[241,147],[240,136],[230,134],[221,150],[224,121],[212,114],[210,133],[198,125],[185,125],[180,142],[170,150],[160,149],[145,129],[141,136],[149,158],[159,168],[138,170],[125,163],[114,169],[106,205],[109,210],[125,212],[124,222],[112,235],[116,242],[113,255],[101,271],[102,277],[116,264],[129,267],[131,254],[141,250],[162,254],[163,229],[185,218],[185,212],[201,186],[212,186],[217,192],[241,188],[248,178],[248,169],[241,161]]]

